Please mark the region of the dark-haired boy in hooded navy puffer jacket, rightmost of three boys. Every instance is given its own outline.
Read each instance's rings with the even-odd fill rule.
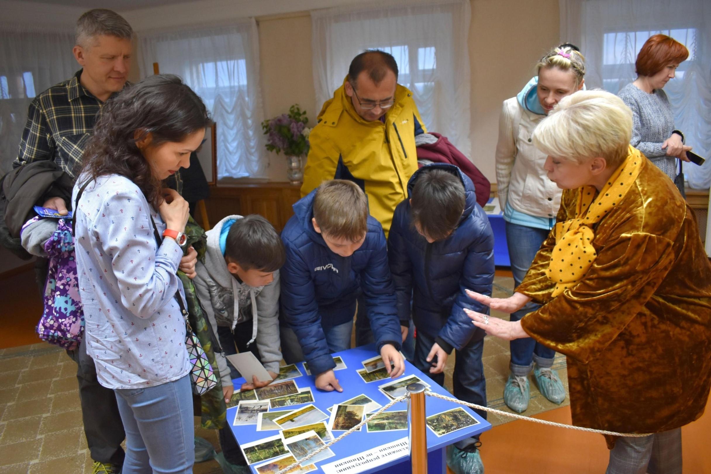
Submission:
[[[491,295],[493,232],[476,203],[474,184],[454,165],[423,166],[407,185],[410,199],[392,217],[387,239],[400,320],[410,316],[417,328],[413,364],[444,386],[444,365],[456,349],[454,396],[486,406],[481,355],[483,330],[473,327],[464,308],[488,308],[465,290]],[[478,413],[486,419],[486,412]],[[477,438],[449,447],[455,473],[481,473]]]

